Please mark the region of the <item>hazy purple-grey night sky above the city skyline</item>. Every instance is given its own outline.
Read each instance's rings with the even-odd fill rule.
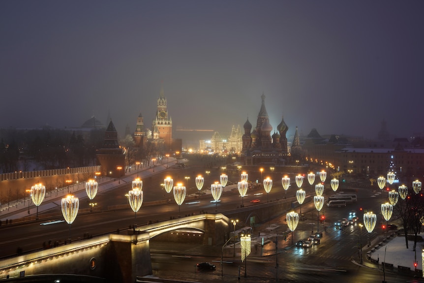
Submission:
[[[424,1],[0,1],[0,127],[423,133]],[[212,135],[208,134],[207,139]],[[175,132],[174,137],[182,137]],[[291,142],[289,140],[289,142]]]

